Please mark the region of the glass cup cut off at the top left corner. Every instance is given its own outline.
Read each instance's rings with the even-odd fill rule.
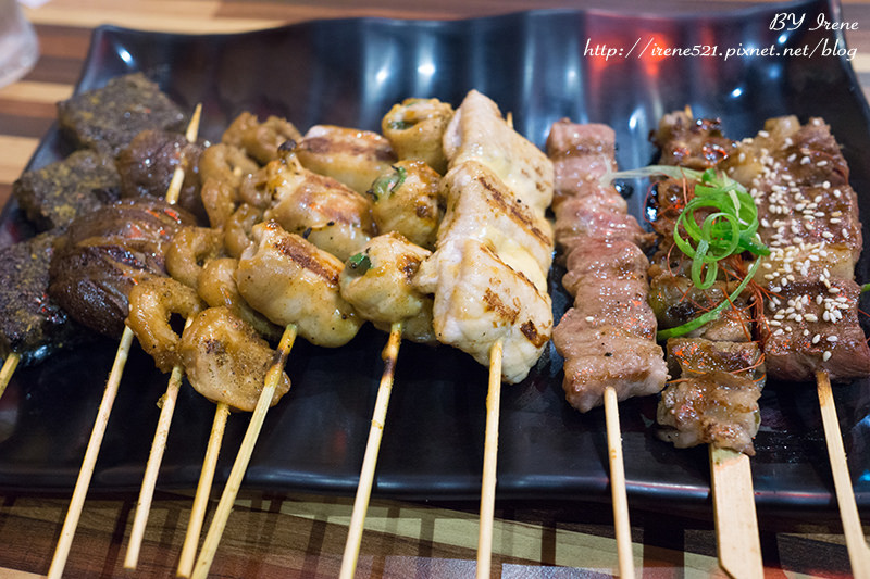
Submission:
[[[0,87],[27,74],[38,58],[39,41],[17,0],[0,0]]]

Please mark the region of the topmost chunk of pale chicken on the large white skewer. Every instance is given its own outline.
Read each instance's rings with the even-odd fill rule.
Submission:
[[[552,163],[508,125],[495,102],[476,90],[465,96],[447,126],[444,152],[450,167],[467,161],[486,165],[540,215],[552,202]]]

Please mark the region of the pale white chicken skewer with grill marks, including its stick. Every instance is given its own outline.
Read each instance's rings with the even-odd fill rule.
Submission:
[[[444,150],[447,211],[415,284],[434,294],[438,341],[489,366],[477,545],[477,577],[488,577],[500,385],[526,377],[552,330],[552,236],[544,218],[552,164],[474,90],[450,121]]]

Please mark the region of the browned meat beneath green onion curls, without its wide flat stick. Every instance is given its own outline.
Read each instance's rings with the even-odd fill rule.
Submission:
[[[733,144],[722,136],[718,122],[695,121],[687,111],[666,115],[654,140],[664,164],[698,171],[733,154]],[[687,262],[673,247],[673,229],[691,197],[692,191],[680,180],[658,184],[654,228],[661,237],[650,267],[650,303],[666,328],[714,307],[738,282],[720,279],[712,288],[699,290],[686,276]],[[732,263],[729,269],[735,267],[743,268]],[[678,448],[712,444],[755,454],[753,438],[760,424],[757,401],[765,367],[758,344],[750,341],[746,300],[738,297],[718,319],[685,338],[668,340],[668,364],[675,379],[661,393],[657,419],[662,427],[659,436]]]

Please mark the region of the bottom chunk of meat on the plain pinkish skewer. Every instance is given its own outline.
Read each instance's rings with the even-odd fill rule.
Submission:
[[[655,394],[668,379],[661,348],[654,340],[589,323],[577,310],[562,316],[552,343],[564,357],[566,399],[580,412],[600,406],[607,387],[625,400]]]

